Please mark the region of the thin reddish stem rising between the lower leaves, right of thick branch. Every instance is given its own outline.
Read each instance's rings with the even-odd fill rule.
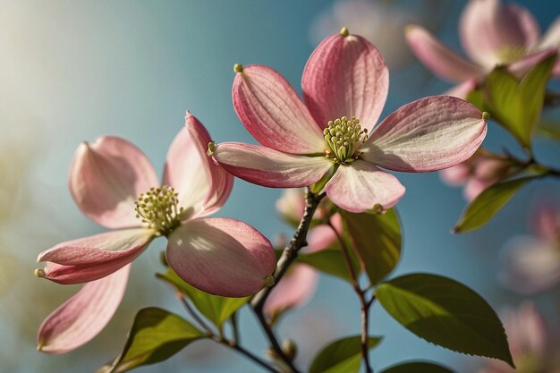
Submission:
[[[342,248],[344,259],[346,261],[346,266],[348,267],[348,272],[350,273],[350,277],[352,280],[352,287],[354,288],[354,292],[358,294],[358,298],[360,299],[361,305],[361,357],[363,359],[363,363],[366,367],[366,373],[373,373],[373,369],[371,368],[371,364],[369,363],[369,346],[368,346],[368,337],[369,337],[369,308],[373,301],[375,301],[375,295],[372,295],[371,299],[366,300],[366,292],[368,289],[362,289],[360,287],[360,283],[358,282],[358,276],[356,276],[356,272],[354,267],[352,266],[352,259],[350,258],[350,251],[346,246],[346,242],[344,242],[344,238],[338,233],[335,226],[330,222],[327,222],[327,225],[335,233],[336,239],[340,242],[340,246]]]

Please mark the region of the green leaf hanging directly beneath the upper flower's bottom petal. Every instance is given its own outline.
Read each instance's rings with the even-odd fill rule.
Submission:
[[[342,212],[352,249],[361,260],[372,285],[378,284],[401,258],[401,228],[395,209],[384,215]]]

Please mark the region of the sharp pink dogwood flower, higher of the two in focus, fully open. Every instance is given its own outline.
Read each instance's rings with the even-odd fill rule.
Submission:
[[[297,188],[325,177],[329,199],[352,212],[391,208],[403,197],[403,185],[378,167],[450,167],[471,157],[487,131],[486,114],[446,96],[405,105],[373,129],[388,69],[376,47],[345,28],[310,55],[301,78],[305,103],[267,66],[236,64],[235,71],[233,106],[262,146],[210,144],[208,154],[227,172],[267,187]]]

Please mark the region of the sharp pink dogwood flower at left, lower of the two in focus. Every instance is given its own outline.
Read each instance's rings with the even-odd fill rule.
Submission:
[[[159,236],[166,259],[187,283],[213,294],[241,297],[265,285],[276,267],[271,243],[240,221],[208,216],[230,194],[233,177],[206,157],[208,131],[191,114],[165,161],[163,186],[139,148],[101,137],[76,150],[70,191],[81,211],[107,233],[63,242],[41,252],[37,275],[85,284],[40,326],[43,352],[64,353],[89,342],[120,304],[131,262]]]

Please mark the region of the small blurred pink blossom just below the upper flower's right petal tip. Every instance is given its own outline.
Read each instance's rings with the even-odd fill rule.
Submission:
[[[439,172],[441,180],[451,186],[464,185],[463,196],[468,201],[475,199],[488,187],[514,174],[518,167],[507,158],[499,157],[479,149],[472,157],[459,165]]]

